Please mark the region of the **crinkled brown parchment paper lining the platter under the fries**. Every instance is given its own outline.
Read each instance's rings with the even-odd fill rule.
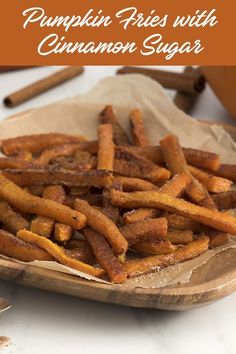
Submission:
[[[128,131],[128,113],[138,107],[145,117],[145,127],[152,144],[168,133],[174,133],[185,147],[219,153],[225,163],[236,163],[236,144],[220,126],[206,126],[176,108],[163,88],[155,81],[137,74],[108,77],[101,80],[86,95],[67,99],[20,114],[17,118],[0,122],[0,139],[19,135],[62,132],[82,134],[95,139],[97,115],[105,104],[112,104],[122,126]],[[185,283],[194,269],[217,253],[236,247],[231,240],[225,246],[209,250],[203,255],[155,273],[127,280],[121,287],[158,288]],[[22,263],[22,262],[20,262]],[[37,267],[74,274],[88,280],[104,282],[56,262],[34,261]]]

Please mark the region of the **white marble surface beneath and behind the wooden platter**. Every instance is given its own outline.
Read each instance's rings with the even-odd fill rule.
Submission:
[[[115,69],[87,67],[83,76],[15,109],[0,105],[0,119],[30,107],[86,92],[100,78],[112,75]],[[181,70],[181,67],[171,69]],[[2,74],[0,98],[56,70],[57,67],[45,67]],[[232,123],[209,88],[199,99],[193,115]],[[236,352],[235,294],[208,307],[188,312],[101,304],[4,281],[0,281],[0,297],[12,302],[12,308],[0,315],[0,336],[11,338],[11,344],[0,349],[4,354]]]

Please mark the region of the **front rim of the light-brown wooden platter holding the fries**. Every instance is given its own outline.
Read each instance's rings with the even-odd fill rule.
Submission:
[[[236,248],[197,268],[190,282],[159,289],[124,289],[79,277],[25,266],[0,257],[0,278],[43,290],[131,307],[188,310],[208,305],[236,290]]]

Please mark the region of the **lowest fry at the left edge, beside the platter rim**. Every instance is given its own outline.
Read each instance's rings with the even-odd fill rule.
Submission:
[[[0,254],[22,262],[54,260],[44,249],[4,230],[0,230]]]

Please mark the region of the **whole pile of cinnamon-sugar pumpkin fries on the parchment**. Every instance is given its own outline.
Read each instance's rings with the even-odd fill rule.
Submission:
[[[1,254],[123,283],[236,235],[236,165],[174,135],[152,146],[138,109],[129,122],[132,139],[106,106],[96,141],[49,133],[1,142]]]

